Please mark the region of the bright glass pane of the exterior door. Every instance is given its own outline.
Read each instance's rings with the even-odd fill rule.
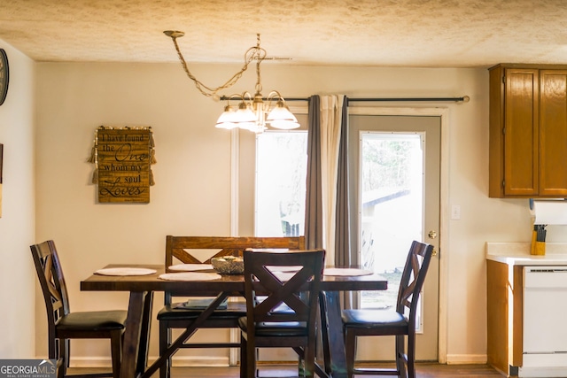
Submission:
[[[360,142],[361,265],[389,288],[362,292],[361,307],[395,308],[408,245],[423,234],[422,135],[364,132]]]

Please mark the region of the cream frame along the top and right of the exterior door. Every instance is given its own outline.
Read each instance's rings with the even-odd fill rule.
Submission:
[[[378,116],[434,116],[441,122],[440,143],[440,182],[439,182],[439,335],[438,361],[447,363],[447,256],[448,220],[449,220],[449,110],[447,107],[414,108],[414,107],[358,107],[348,108],[349,115],[378,115]]]

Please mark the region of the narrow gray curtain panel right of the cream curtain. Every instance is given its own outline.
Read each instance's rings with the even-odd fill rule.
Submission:
[[[350,266],[351,261],[351,238],[350,217],[348,204],[348,164],[347,149],[348,142],[348,99],[343,101],[343,112],[341,118],[340,146],[338,149],[338,177],[337,177],[337,212],[335,230],[335,266]]]

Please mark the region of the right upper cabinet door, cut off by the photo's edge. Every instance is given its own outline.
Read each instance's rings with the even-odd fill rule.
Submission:
[[[540,196],[567,197],[567,70],[540,71]]]

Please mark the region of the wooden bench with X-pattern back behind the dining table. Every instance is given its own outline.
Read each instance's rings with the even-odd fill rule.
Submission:
[[[305,237],[230,237],[230,236],[172,236],[166,237],[166,268],[177,263],[210,264],[211,258],[221,256],[242,256],[247,248],[270,248],[302,250]],[[175,303],[175,292],[165,292],[165,306],[158,312],[159,352],[163,355],[172,345],[172,329],[188,328],[202,309],[180,308]],[[183,295],[182,297],[186,297]],[[226,309],[215,310],[199,328],[238,328],[238,319],[245,316],[243,302],[229,301]],[[239,348],[240,343],[206,342],[183,343],[180,348]],[[171,357],[159,368],[160,378],[168,378]]]

